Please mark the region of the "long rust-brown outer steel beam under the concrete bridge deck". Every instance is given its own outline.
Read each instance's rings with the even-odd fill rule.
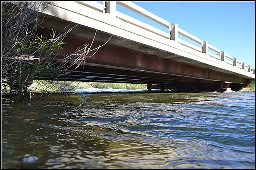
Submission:
[[[77,49],[77,46],[84,44],[84,40],[76,38],[67,38],[64,40],[66,45],[62,54],[69,54]],[[90,43],[90,41],[88,41]],[[93,47],[98,47],[100,44],[94,43]],[[92,47],[92,48],[93,48]],[[90,55],[90,54],[89,54]],[[155,72],[159,74],[169,74],[172,76],[182,76],[187,78],[196,78],[209,80],[208,69],[179,63],[173,60],[159,58],[149,54],[142,54],[131,49],[119,48],[113,45],[105,45],[101,47],[97,53],[88,59],[86,64],[102,65],[102,67],[122,67],[123,69],[134,69],[137,71]],[[247,84],[248,79],[224,74],[221,72],[211,71],[211,81],[231,81],[235,83]]]

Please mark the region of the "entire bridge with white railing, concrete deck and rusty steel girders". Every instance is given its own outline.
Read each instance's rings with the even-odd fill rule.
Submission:
[[[94,47],[104,44],[113,35],[93,57],[86,59],[83,67],[58,80],[141,83],[147,84],[149,90],[223,92],[228,88],[225,82],[231,82],[231,89],[238,91],[255,79],[255,69],[250,65],[132,2],[48,3],[50,5],[41,11],[44,16],[42,33],[77,25],[64,39],[66,45],[63,45],[62,54],[91,43],[96,30]],[[167,31],[118,11],[117,5],[162,25]],[[194,43],[182,40],[181,36]],[[49,77],[39,79],[51,80]]]

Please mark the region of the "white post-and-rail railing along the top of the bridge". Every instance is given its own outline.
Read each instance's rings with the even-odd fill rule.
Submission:
[[[188,33],[187,31],[184,31],[183,29],[178,27],[177,23],[170,23],[163,18],[156,16],[154,13],[151,13],[150,11],[147,11],[146,9],[134,4],[133,2],[129,1],[103,1],[103,4],[95,1],[78,1],[77,3],[86,5],[88,7],[91,7],[97,11],[100,11],[102,13],[108,13],[109,15],[113,16],[114,18],[120,19],[122,21],[125,21],[131,25],[134,25],[136,27],[140,27],[142,29],[145,29],[147,31],[150,31],[153,37],[161,36],[163,38],[174,40],[175,42],[180,43],[181,45],[184,45],[186,47],[189,47],[190,49],[193,49],[195,51],[198,51],[200,53],[204,53],[207,56],[210,56],[212,58],[215,58],[216,60],[224,61],[225,63],[229,65],[233,65],[235,67],[238,67],[240,69],[244,69],[247,72],[251,72],[255,74],[255,69],[251,69],[250,65],[245,64],[244,62],[237,60],[235,57],[232,57],[225,53],[225,51],[217,49],[216,47],[208,44],[207,40],[201,40],[197,38],[196,36],[193,36],[192,34]],[[137,20],[135,18],[132,18],[120,11],[116,10],[116,4],[121,5],[122,7],[125,7],[131,11],[134,11],[135,13],[140,14],[141,16],[144,16],[145,18],[148,18],[163,27],[169,29],[169,34],[165,31],[162,31],[156,27],[153,27],[151,25],[148,25],[145,22],[142,22],[140,20]],[[179,38],[179,35],[184,36],[193,42],[195,44],[199,45],[193,45],[190,42],[187,42],[185,40],[182,40]],[[217,54],[213,54],[209,51],[216,52]]]

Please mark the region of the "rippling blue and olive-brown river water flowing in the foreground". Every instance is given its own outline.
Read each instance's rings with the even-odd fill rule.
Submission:
[[[255,168],[255,93],[2,98],[2,168]]]

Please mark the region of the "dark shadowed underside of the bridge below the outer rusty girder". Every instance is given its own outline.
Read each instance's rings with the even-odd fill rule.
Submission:
[[[56,78],[41,77],[41,80],[56,80]],[[185,78],[182,76],[170,76],[168,74],[157,74],[150,72],[131,71],[125,69],[114,69],[104,66],[85,65],[70,74],[59,76],[59,81],[82,81],[82,82],[105,82],[105,83],[132,83],[147,84],[148,89],[174,89],[179,92],[215,91],[228,88],[227,83],[222,81],[206,81],[196,78]],[[238,91],[244,85],[238,83],[230,84],[232,90]]]

